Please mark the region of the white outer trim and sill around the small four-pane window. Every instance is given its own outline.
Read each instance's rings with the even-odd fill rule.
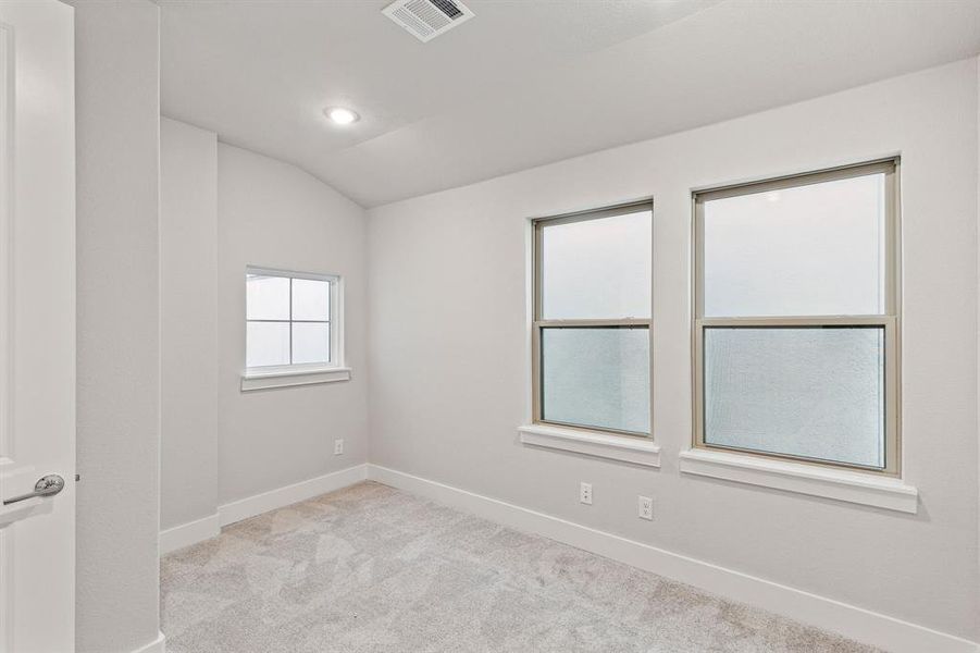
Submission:
[[[346,366],[344,347],[344,278],[338,274],[296,272],[258,266],[247,266],[246,274],[265,274],[330,282],[331,362],[246,367],[241,372],[241,391],[349,381],[351,369]],[[247,318],[245,322],[248,322]]]

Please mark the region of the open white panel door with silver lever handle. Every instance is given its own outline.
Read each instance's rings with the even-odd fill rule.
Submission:
[[[74,650],[74,67],[71,7],[0,1],[0,653]]]

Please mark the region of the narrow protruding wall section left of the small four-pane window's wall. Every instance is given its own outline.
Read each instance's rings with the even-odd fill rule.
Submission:
[[[160,121],[160,526],[218,505],[218,136]]]

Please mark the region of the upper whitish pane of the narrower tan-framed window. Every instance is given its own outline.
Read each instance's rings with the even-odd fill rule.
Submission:
[[[650,211],[542,229],[542,317],[648,318]]]

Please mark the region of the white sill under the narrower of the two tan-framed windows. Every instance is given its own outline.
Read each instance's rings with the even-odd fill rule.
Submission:
[[[660,447],[650,439],[563,429],[546,424],[518,427],[518,432],[524,444],[574,452],[597,458],[623,460],[645,467],[660,467]]]

